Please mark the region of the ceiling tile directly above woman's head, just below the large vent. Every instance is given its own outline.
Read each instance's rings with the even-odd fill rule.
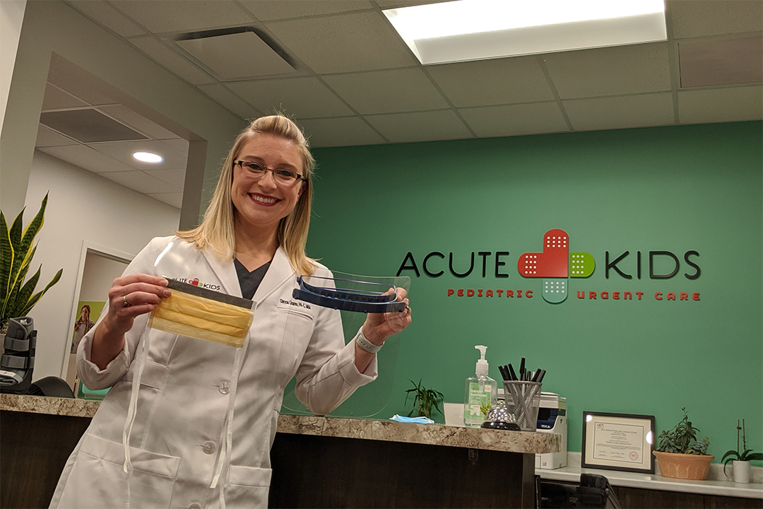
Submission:
[[[353,114],[317,78],[268,79],[227,83],[226,86],[260,111],[285,111],[296,118]]]

